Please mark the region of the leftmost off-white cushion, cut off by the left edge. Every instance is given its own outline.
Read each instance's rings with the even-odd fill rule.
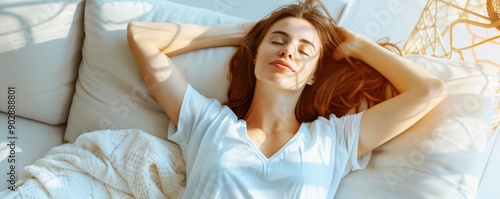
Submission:
[[[0,111],[16,87],[16,115],[66,123],[83,41],[82,0],[0,0]]]

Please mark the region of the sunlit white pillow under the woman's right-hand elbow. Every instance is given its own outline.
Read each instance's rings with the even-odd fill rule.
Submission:
[[[406,132],[375,149],[365,169],[344,177],[335,198],[475,198],[497,69],[406,57],[445,81],[449,96]]]

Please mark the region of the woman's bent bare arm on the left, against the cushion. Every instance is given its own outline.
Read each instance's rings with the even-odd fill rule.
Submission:
[[[132,22],[127,27],[127,40],[146,84],[165,113],[177,124],[187,80],[168,56],[201,48],[238,45],[250,27],[252,23]]]

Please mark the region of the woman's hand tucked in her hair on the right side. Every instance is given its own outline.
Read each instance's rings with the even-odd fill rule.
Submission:
[[[333,57],[336,60],[346,57],[361,59],[363,49],[368,45],[376,44],[368,37],[357,34],[347,28],[335,26],[334,29],[342,40],[342,43],[333,52]]]

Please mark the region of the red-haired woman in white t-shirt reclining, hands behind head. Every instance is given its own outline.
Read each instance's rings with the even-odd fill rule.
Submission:
[[[340,179],[363,168],[370,151],[446,96],[438,78],[336,26],[317,0],[284,6],[256,24],[133,22],[128,41],[176,126],[169,139],[186,161],[184,198],[333,198]],[[200,95],[168,58],[225,45],[240,45],[230,62],[227,106]],[[364,76],[348,64],[351,58],[400,94],[381,103],[364,95],[368,110],[339,118],[336,109],[345,114],[350,105],[359,107],[362,88],[370,84],[358,82],[347,95],[335,92],[350,82],[342,68]]]

